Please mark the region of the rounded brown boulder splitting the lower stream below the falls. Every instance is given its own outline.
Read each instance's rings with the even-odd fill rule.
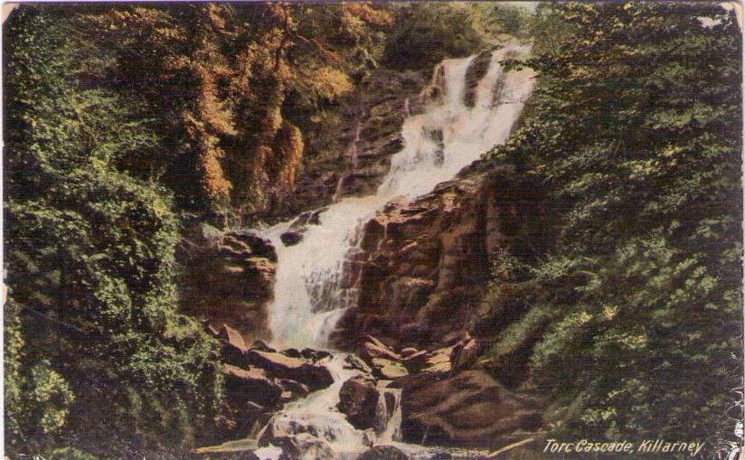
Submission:
[[[357,429],[376,427],[376,411],[381,398],[375,380],[357,376],[344,381],[339,390],[337,408],[346,415],[349,423]]]

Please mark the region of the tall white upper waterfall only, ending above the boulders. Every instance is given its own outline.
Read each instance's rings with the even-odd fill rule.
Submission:
[[[391,171],[374,195],[331,205],[320,214],[320,225],[308,226],[295,246],[285,247],[279,238],[290,222],[265,232],[278,253],[269,318],[275,343],[324,346],[325,334],[352,300],[339,295],[348,294],[348,289],[338,287],[363,223],[392,198],[430,192],[505,141],[533,88],[533,78],[526,71],[503,73],[499,61],[527,52],[525,45],[510,44],[493,53],[489,70],[476,87],[474,108],[464,103],[466,72],[474,58],[440,63],[432,84],[438,85],[441,74],[442,96],[431,101],[424,113],[404,121],[404,148],[393,155]]]

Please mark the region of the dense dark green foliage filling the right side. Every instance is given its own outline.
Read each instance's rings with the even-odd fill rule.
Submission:
[[[542,181],[560,219],[532,277],[492,288],[493,305],[516,286],[529,294],[487,364],[529,347],[526,384],[562,401],[558,432],[712,447],[731,430],[741,371],[734,15],[561,4],[542,5],[535,23],[532,109],[491,155]]]

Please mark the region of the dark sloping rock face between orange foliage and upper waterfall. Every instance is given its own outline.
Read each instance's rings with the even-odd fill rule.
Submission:
[[[344,196],[374,192],[401,150],[404,119],[421,109],[426,79],[412,71],[376,70],[305,135],[302,166],[291,196],[266,217],[288,217]]]

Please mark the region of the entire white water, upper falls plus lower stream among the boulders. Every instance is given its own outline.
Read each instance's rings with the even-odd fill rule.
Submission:
[[[493,52],[486,75],[477,83],[473,108],[468,108],[464,99],[467,70],[474,57],[440,63],[429,87],[439,89],[439,94],[423,113],[404,121],[404,148],[392,157],[391,170],[374,195],[335,202],[318,216],[319,224],[307,226],[297,245],[286,247],[280,239],[291,222],[264,232],[278,253],[275,300],[269,318],[275,345],[326,346],[328,333],[354,301],[354,289],[344,286],[344,263],[364,222],[395,197],[430,192],[505,141],[533,89],[533,75],[526,70],[503,72],[499,61],[528,52],[529,47],[520,44]],[[270,423],[298,438],[322,441],[335,457],[354,458],[365,445],[397,441],[401,412],[397,409],[389,426],[373,434],[373,439],[370,433],[354,429],[335,408],[342,383],[356,372],[345,369],[343,360],[344,355],[337,353],[327,364],[335,374],[334,385],[289,404]],[[318,455],[314,450],[307,457]]]

